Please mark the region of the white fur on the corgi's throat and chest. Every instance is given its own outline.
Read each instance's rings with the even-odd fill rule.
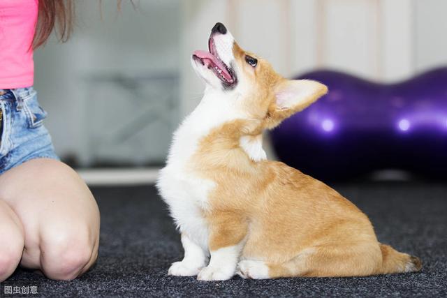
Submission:
[[[207,249],[208,227],[203,214],[209,207],[208,195],[215,184],[190,170],[189,163],[203,137],[213,128],[240,116],[227,98],[217,96],[205,96],[177,129],[167,165],[161,170],[157,182],[179,230],[204,249]]]

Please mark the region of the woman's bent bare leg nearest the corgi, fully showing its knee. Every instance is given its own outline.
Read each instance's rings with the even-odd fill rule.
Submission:
[[[98,206],[70,167],[48,158],[27,161],[0,176],[0,198],[22,222],[23,267],[70,280],[95,262]]]

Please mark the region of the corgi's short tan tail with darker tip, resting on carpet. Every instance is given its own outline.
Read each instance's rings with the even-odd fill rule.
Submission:
[[[382,251],[381,274],[415,272],[422,268],[419,258],[406,253],[400,253],[389,245],[380,244]]]

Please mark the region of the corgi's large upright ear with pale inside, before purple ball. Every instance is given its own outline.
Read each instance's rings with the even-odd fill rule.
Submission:
[[[284,119],[291,117],[325,95],[328,87],[312,80],[281,80],[273,89],[274,100],[269,108],[268,128],[277,126]]]

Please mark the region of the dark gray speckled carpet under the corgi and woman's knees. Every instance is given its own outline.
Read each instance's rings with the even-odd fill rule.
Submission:
[[[381,242],[417,255],[423,270],[266,281],[166,276],[170,263],[182,258],[179,235],[154,187],[139,186],[92,190],[101,209],[101,246],[98,262],[87,274],[75,281],[50,281],[17,269],[3,285],[36,285],[45,297],[447,297],[446,184],[335,188],[369,215]]]

